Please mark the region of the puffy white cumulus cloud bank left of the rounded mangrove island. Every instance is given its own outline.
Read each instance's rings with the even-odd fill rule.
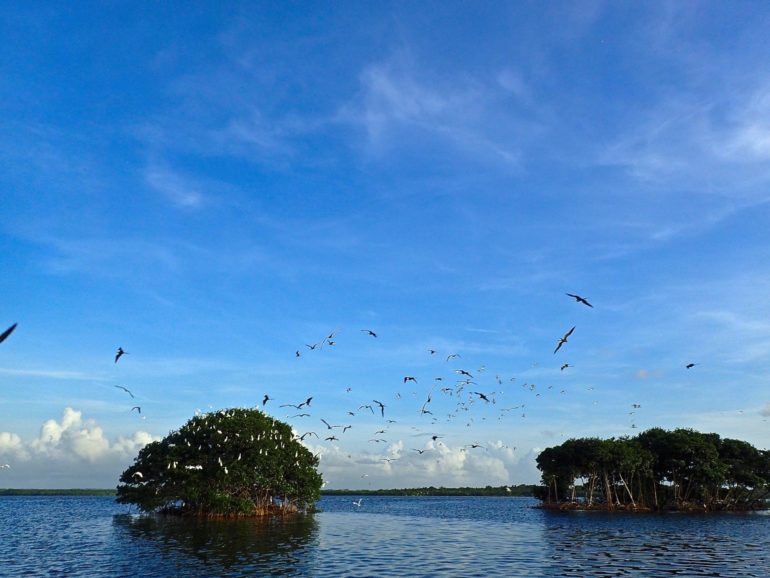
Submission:
[[[47,420],[37,438],[24,441],[0,432],[0,487],[110,488],[137,453],[155,438],[145,431],[110,441],[82,412],[64,409],[59,421]]]

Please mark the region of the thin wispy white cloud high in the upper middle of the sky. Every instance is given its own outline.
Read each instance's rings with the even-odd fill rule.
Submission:
[[[490,79],[440,76],[401,51],[367,66],[360,84],[361,94],[340,109],[339,120],[363,128],[378,153],[402,147],[405,132],[413,132],[468,158],[518,168],[524,143],[544,130],[529,86],[510,68]],[[505,105],[511,98],[527,111],[511,114]]]

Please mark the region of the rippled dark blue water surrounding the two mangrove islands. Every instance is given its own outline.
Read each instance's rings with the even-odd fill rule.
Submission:
[[[770,576],[770,515],[534,510],[526,498],[325,497],[271,521],[0,497],[0,576]]]

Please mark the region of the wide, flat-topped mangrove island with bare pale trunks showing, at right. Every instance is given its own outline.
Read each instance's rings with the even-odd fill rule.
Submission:
[[[537,467],[547,509],[760,510],[770,496],[769,451],[691,429],[570,439],[542,451]]]

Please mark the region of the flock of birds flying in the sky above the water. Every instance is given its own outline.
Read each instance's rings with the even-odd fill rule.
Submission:
[[[593,309],[593,305],[588,301],[587,298],[573,294],[573,293],[566,293],[566,295],[572,299],[575,300],[576,303],[582,304],[586,307],[589,307]],[[5,341],[11,333],[16,329],[17,324],[14,323],[11,327],[6,329],[2,334],[0,334],[0,343]],[[557,341],[555,348],[553,350],[553,354],[556,355],[559,353],[559,351],[562,350],[562,348],[568,344],[568,341],[570,337],[574,334],[576,329],[576,326],[572,326],[570,329],[568,329]],[[361,333],[364,333],[367,337],[370,337],[372,339],[377,339],[378,334],[376,331],[372,329],[361,329]],[[295,350],[294,356],[296,358],[303,357],[304,353],[310,353],[310,352],[317,352],[324,348],[334,347],[337,345],[337,331],[332,331],[325,337],[323,337],[320,341],[317,341],[315,343],[308,343],[305,344],[305,349],[297,349]],[[439,351],[437,349],[428,349],[427,351],[429,356],[437,356]],[[118,363],[123,356],[128,355],[128,352],[125,351],[122,347],[118,347],[115,352],[114,357],[114,363]],[[448,352],[445,354],[442,354],[444,356],[444,362],[449,363],[453,362],[455,364],[459,364],[459,360],[462,359],[462,356],[460,353],[456,352]],[[687,363],[685,365],[686,369],[692,369],[695,367],[695,363]],[[569,368],[571,368],[572,365],[570,363],[562,363],[559,365],[560,371],[565,371]],[[419,403],[417,406],[415,406],[415,413],[423,419],[427,419],[429,421],[428,424],[424,425],[423,427],[418,426],[412,426],[412,430],[415,431],[412,435],[414,437],[419,436],[425,436],[427,439],[430,440],[430,443],[426,443],[426,445],[422,448],[409,448],[410,452],[415,452],[417,455],[422,456],[423,454],[430,454],[431,452],[435,451],[437,449],[437,446],[441,445],[443,442],[440,440],[445,437],[442,434],[435,433],[436,424],[439,422],[439,417],[436,415],[436,412],[434,412],[434,409],[436,407],[433,405],[435,403],[434,396],[442,396],[447,399],[454,400],[454,407],[451,411],[446,413],[445,420],[447,422],[451,422],[453,420],[456,420],[460,416],[464,416],[466,418],[466,426],[470,427],[476,417],[471,414],[472,408],[476,404],[483,404],[483,406],[489,406],[489,407],[496,407],[496,413],[497,413],[497,419],[502,420],[506,416],[510,415],[510,412],[513,411],[521,411],[521,418],[526,418],[526,403],[519,403],[517,405],[511,405],[507,407],[497,407],[498,405],[498,395],[502,394],[502,391],[497,391],[498,389],[501,389],[501,386],[503,386],[504,383],[510,383],[514,382],[516,380],[515,377],[511,377],[509,379],[504,380],[500,375],[494,376],[494,384],[495,390],[490,391],[482,391],[482,387],[479,385],[479,382],[481,381],[479,377],[482,376],[482,374],[486,373],[485,366],[480,366],[475,370],[471,370],[468,368],[454,368],[452,369],[452,373],[454,374],[454,382],[450,383],[449,378],[447,378],[445,375],[434,377],[433,380],[430,383],[430,386],[427,391],[423,391],[422,394],[418,394],[417,389],[414,389],[411,393],[413,397],[417,397],[418,395],[421,395],[421,403]],[[420,378],[422,379],[422,378]],[[415,375],[404,375],[401,380],[402,386],[413,386],[415,388],[419,387],[418,377]],[[135,399],[134,393],[127,387],[123,385],[115,385],[114,386],[117,389],[122,390],[127,395],[131,397],[131,399]],[[535,398],[541,397],[542,393],[540,390],[538,390],[537,386],[534,383],[523,383],[521,384],[521,387],[523,390],[534,396]],[[552,389],[553,386],[548,386],[546,390],[543,390],[543,393],[547,390]],[[542,388],[541,388],[542,389]],[[588,389],[593,389],[589,387]],[[345,390],[346,394],[351,394],[353,389],[351,387],[347,387]],[[566,394],[565,389],[561,389],[560,394],[564,395]],[[306,397],[304,400],[298,402],[298,403],[282,403],[279,405],[279,408],[284,409],[293,409],[295,410],[294,413],[287,414],[285,416],[286,419],[291,420],[292,427],[295,431],[295,439],[298,439],[300,441],[305,441],[306,439],[309,439],[311,437],[315,437],[319,440],[323,440],[323,442],[339,442],[340,436],[343,435],[351,435],[348,434],[348,432],[353,431],[353,435],[355,435],[355,432],[357,429],[359,429],[359,426],[355,424],[353,418],[358,418],[362,414],[364,416],[369,416],[366,421],[368,421],[371,418],[377,418],[379,417],[380,420],[382,420],[382,423],[384,425],[381,425],[378,427],[378,429],[374,430],[371,434],[364,434],[368,443],[371,444],[387,444],[388,439],[387,435],[390,430],[390,428],[397,424],[398,421],[395,419],[390,418],[390,405],[391,403],[397,404],[401,402],[404,399],[404,396],[401,392],[395,392],[394,394],[394,400],[393,402],[385,403],[378,399],[365,399],[365,400],[359,400],[357,403],[354,403],[352,406],[350,406],[349,409],[347,409],[343,414],[338,416],[338,418],[335,419],[327,419],[327,417],[319,417],[318,423],[323,424],[323,427],[325,430],[324,433],[319,435],[316,431],[312,429],[307,429],[307,431],[304,431],[303,433],[299,433],[302,431],[303,427],[298,427],[301,425],[299,420],[302,420],[301,423],[306,423],[306,420],[308,418],[312,418],[313,414],[311,413],[311,404],[314,397],[309,396]],[[383,398],[385,399],[385,398]],[[269,402],[275,401],[273,397],[271,397],[269,394],[264,394],[261,400],[261,408],[263,411],[266,411],[266,406]],[[596,402],[595,402],[596,403]],[[451,403],[450,403],[451,407]],[[633,411],[629,412],[629,415],[634,415],[636,413],[636,410],[641,408],[641,404],[634,403],[632,405]],[[386,419],[386,410],[388,412],[388,418]],[[142,414],[142,407],[140,405],[134,405],[129,410],[131,412],[136,411],[138,415]],[[438,410],[437,410],[438,411]],[[144,416],[142,416],[144,417]],[[484,415],[481,417],[482,420],[486,420],[487,416]],[[332,423],[332,422],[339,422],[339,423]],[[428,428],[428,426],[430,426]],[[636,428],[635,424],[631,424],[632,428]],[[428,428],[428,429],[426,429]],[[322,437],[323,436],[323,437]],[[359,438],[361,439],[361,438]],[[509,446],[502,446],[504,448],[509,448]],[[473,442],[470,444],[467,444],[463,446],[460,451],[469,451],[469,450],[485,450],[487,449],[483,444],[479,442]],[[512,448],[515,450],[515,446]],[[392,452],[393,450],[391,450]],[[349,456],[351,457],[351,456]],[[386,455],[382,455],[379,458],[380,462],[385,462],[386,464],[390,464],[393,461],[396,461],[398,459],[401,459],[403,456],[400,453],[390,453]],[[4,464],[0,466],[2,468],[9,468],[10,466],[8,464]],[[368,477],[368,474],[361,475],[361,478]],[[360,507],[361,502],[360,500],[358,502],[354,503],[356,506]]]

